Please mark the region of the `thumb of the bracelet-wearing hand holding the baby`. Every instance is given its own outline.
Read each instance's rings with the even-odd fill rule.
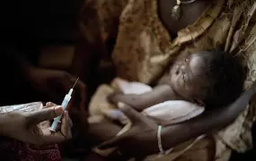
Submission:
[[[142,114],[138,113],[134,108],[124,103],[118,103],[119,109],[128,117],[132,123],[141,121]]]

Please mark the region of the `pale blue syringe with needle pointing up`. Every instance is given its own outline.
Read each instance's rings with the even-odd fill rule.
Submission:
[[[77,80],[79,80],[79,78],[77,78],[77,79],[75,80],[75,84],[76,84]],[[70,101],[70,99],[71,99],[71,95],[72,95],[73,89],[74,89],[74,87],[75,87],[75,84],[73,85],[72,89],[69,89],[68,93],[66,94],[66,96],[64,97],[64,99],[63,99],[63,101],[62,101],[61,106],[62,106],[62,108],[63,108],[63,111],[66,110],[66,106],[68,105],[68,103],[69,103],[69,101]],[[57,116],[57,117],[54,119],[53,123],[52,123],[51,126],[50,126],[50,131],[56,131],[57,123],[60,123],[61,117],[62,117],[62,114],[59,115],[59,116]]]

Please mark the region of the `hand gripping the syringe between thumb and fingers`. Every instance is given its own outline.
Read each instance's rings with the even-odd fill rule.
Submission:
[[[50,120],[63,114],[59,130],[51,132],[49,127]],[[72,122],[67,114],[63,112],[61,106],[48,103],[47,106],[39,111],[22,112],[13,111],[0,115],[2,132],[4,136],[21,140],[23,142],[42,145],[58,143],[71,139]]]

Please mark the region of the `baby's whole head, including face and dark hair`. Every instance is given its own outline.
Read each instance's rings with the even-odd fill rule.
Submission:
[[[234,56],[222,51],[180,55],[170,71],[172,89],[207,108],[226,106],[243,91],[245,72]]]

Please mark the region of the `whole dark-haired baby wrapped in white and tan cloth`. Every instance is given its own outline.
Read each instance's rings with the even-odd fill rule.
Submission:
[[[89,123],[118,120],[128,131],[131,123],[115,105],[128,103],[159,124],[181,123],[206,110],[231,104],[243,91],[245,72],[232,55],[201,51],[177,57],[152,89],[139,82],[115,79],[102,85],[89,106]]]

